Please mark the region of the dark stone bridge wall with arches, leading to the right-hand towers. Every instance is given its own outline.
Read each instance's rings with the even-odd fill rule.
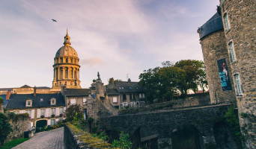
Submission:
[[[125,133],[129,133],[131,138],[134,135],[141,136],[139,139],[143,140],[157,137],[159,146],[167,143],[168,148],[171,148],[173,133],[179,127],[189,125],[198,130],[202,148],[210,148],[210,146],[216,145],[213,126],[222,121],[228,107],[231,107],[231,104],[184,107],[134,114],[123,113],[123,115],[100,118],[100,127],[109,132],[123,130]],[[140,134],[135,134],[135,132]]]

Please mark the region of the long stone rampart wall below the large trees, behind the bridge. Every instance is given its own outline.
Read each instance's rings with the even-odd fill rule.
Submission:
[[[120,110],[118,115],[124,114],[132,114],[138,112],[148,112],[148,111],[159,111],[159,110],[171,110],[174,108],[183,108],[183,107],[198,107],[198,106],[205,106],[210,104],[210,96],[208,93],[205,95],[197,95],[191,98],[173,100],[168,102],[162,102],[158,104],[150,104],[143,107],[135,107],[128,110]]]

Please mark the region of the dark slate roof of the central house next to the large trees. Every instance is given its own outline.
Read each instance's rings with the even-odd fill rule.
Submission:
[[[120,93],[141,93],[144,92],[142,86],[138,85],[138,82],[118,81],[115,82],[116,89]]]

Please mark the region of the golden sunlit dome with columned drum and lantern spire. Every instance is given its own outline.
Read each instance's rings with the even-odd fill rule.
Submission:
[[[52,88],[66,86],[67,88],[80,89],[79,57],[72,48],[68,34],[64,37],[64,46],[58,49],[54,58],[54,77]]]

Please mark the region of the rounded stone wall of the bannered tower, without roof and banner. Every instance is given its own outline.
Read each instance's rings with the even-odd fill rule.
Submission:
[[[201,39],[201,47],[204,55],[204,64],[206,66],[207,81],[209,84],[210,101],[213,104],[226,101],[236,101],[234,92],[233,76],[228,57],[227,45],[225,43],[224,31],[216,31],[213,34]],[[219,77],[219,68],[217,60],[225,58],[228,65],[228,75],[231,80],[231,90],[222,89],[222,83]]]

